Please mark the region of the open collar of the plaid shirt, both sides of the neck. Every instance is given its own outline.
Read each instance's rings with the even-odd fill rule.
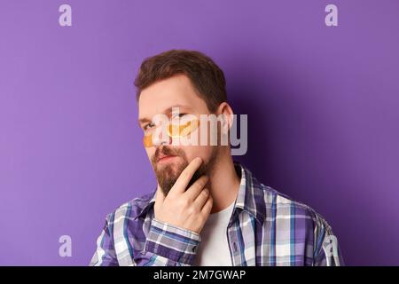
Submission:
[[[236,209],[244,210],[252,215],[261,225],[266,217],[266,201],[264,198],[264,189],[262,184],[253,176],[252,172],[239,162],[234,162],[236,172],[240,173],[239,193],[234,204],[233,214]],[[153,208],[155,202],[156,189],[150,194],[152,199],[148,201],[137,217],[142,217]]]

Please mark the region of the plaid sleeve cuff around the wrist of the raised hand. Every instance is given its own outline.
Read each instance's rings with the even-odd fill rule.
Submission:
[[[144,265],[193,265],[200,241],[199,233],[153,218],[144,249],[150,261]]]

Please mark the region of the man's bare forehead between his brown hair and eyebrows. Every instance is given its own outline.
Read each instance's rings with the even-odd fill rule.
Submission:
[[[171,106],[188,106],[193,112],[204,113],[207,105],[201,99],[186,75],[175,75],[153,83],[141,92],[138,99],[138,118],[151,119],[164,114]]]

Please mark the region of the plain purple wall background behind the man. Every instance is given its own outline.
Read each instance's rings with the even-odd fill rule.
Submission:
[[[399,264],[398,28],[395,0],[2,0],[0,264],[86,265],[106,214],[153,190],[133,80],[172,48],[223,68],[237,160],[325,216],[347,264]]]

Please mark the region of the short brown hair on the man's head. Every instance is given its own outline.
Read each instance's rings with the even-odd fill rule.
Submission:
[[[222,69],[200,51],[187,50],[164,51],[146,58],[135,79],[137,100],[146,87],[177,74],[188,76],[209,111],[215,112],[217,106],[227,101],[226,80]]]

